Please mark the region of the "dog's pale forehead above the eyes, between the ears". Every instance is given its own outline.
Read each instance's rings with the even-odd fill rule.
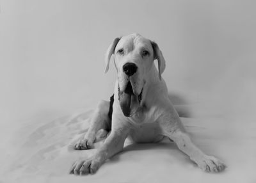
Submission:
[[[129,51],[141,47],[147,48],[148,51],[152,51],[153,49],[150,40],[138,34],[123,36],[116,45],[116,48],[124,48]]]

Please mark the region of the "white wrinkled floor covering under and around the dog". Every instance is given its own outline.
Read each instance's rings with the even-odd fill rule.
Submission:
[[[2,149],[0,182],[256,182],[255,119],[211,115],[182,121],[198,147],[225,161],[228,168],[223,173],[201,171],[173,143],[163,141],[126,142],[124,152],[95,175],[69,175],[76,159],[95,151],[72,150],[91,113],[92,109],[79,109],[47,122],[23,123]]]

